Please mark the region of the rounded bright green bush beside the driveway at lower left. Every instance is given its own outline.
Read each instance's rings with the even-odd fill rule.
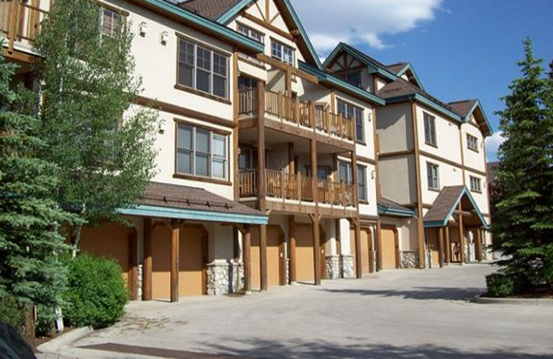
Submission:
[[[100,329],[117,322],[129,301],[119,264],[81,254],[68,265],[68,290],[62,306],[66,324]]]

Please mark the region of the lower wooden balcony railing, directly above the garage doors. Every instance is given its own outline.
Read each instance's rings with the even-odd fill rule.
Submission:
[[[300,173],[265,170],[267,197],[314,203],[313,179]],[[318,203],[330,206],[354,206],[353,185],[317,179]],[[240,197],[257,197],[257,170],[240,172]]]

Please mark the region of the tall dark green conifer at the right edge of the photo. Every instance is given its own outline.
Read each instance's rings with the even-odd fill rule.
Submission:
[[[526,39],[522,77],[503,98],[498,151],[498,198],[494,249],[503,251],[501,272],[514,280],[514,292],[553,289],[553,78]]]

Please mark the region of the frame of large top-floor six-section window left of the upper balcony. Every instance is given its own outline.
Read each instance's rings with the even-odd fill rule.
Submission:
[[[183,37],[177,37],[177,41],[178,41],[178,45],[177,45],[177,84],[179,86],[183,86],[185,88],[191,88],[192,90],[196,90],[196,91],[199,91],[200,93],[205,93],[207,95],[212,95],[212,96],[215,96],[215,97],[218,97],[220,99],[229,99],[229,56],[226,55],[225,53],[223,52],[218,52],[216,50],[213,50],[212,48],[209,48],[207,46],[203,46],[201,44],[198,44],[194,41],[191,41],[189,39],[185,39]],[[181,48],[182,48],[182,45],[183,44],[188,44],[190,46],[192,46],[192,48],[194,49],[194,53],[193,53],[193,58],[194,58],[194,61],[193,61],[193,64],[189,64],[187,63],[185,60],[186,60],[186,57],[185,59],[181,59]],[[209,69],[207,68],[199,68],[198,67],[198,48],[200,48],[201,50],[203,51],[207,51],[209,52]],[[215,59],[215,56],[219,56],[219,57],[223,57],[223,59],[225,59],[225,74],[222,74],[220,72],[216,72],[215,70],[215,62],[214,62],[214,59]],[[192,84],[191,86],[189,86],[188,84],[182,84],[180,83],[180,68],[181,68],[181,64],[184,65],[184,66],[189,66],[192,68]],[[197,82],[197,73],[198,71],[204,71],[204,72],[208,72],[209,73],[209,89],[207,91],[205,90],[200,90],[198,88],[198,82]],[[219,79],[224,79],[225,80],[225,95],[224,96],[221,96],[221,95],[218,95],[216,93],[214,93],[214,79],[215,78],[219,78]]]

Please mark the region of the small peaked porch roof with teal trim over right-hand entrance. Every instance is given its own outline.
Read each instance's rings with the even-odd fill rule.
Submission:
[[[485,228],[488,228],[484,216],[466,186],[446,186],[442,188],[442,191],[440,191],[440,194],[434,200],[432,207],[424,215],[424,227],[446,226],[463,196],[467,196],[474,211],[476,211],[476,215],[480,218],[480,222],[482,222]]]

